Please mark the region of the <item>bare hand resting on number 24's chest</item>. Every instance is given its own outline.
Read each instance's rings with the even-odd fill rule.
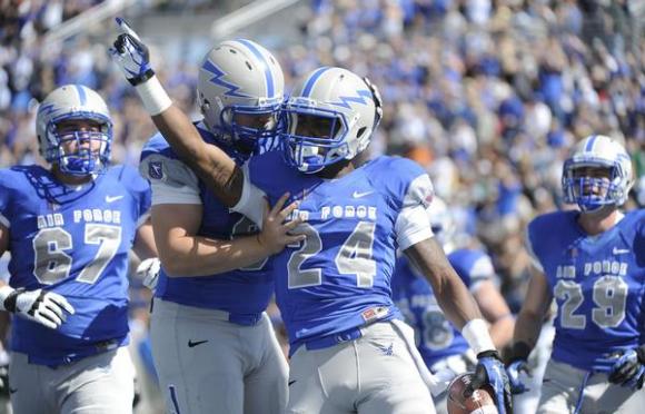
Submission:
[[[280,197],[274,208],[269,209],[268,204],[266,206],[262,230],[258,234],[258,241],[270,255],[280,253],[287,245],[300,243],[307,237],[302,234],[291,233],[302,223],[302,219],[297,217],[287,221],[287,217],[298,207],[297,201],[284,207],[287,199],[289,199],[288,193]]]

